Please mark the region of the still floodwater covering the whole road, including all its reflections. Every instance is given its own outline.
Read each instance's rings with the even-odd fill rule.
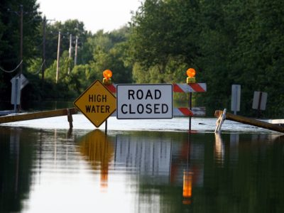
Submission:
[[[284,136],[78,114],[0,126],[0,212],[284,212]]]

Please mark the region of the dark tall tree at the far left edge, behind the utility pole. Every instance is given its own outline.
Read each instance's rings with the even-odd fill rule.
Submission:
[[[40,13],[35,0],[1,1],[0,6],[0,67],[13,70],[20,63],[20,26],[21,9],[23,9],[23,73],[26,73],[29,59],[38,55],[36,48],[40,43],[38,26]],[[2,72],[2,71],[1,71]],[[8,100],[11,96],[11,77],[19,70],[0,75],[0,100]]]

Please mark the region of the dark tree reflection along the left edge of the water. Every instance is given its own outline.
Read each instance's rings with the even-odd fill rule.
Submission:
[[[22,143],[28,134],[20,128],[0,128],[0,212],[21,212],[28,193],[33,144]]]

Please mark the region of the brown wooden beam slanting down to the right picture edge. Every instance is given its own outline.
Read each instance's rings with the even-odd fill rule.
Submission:
[[[217,111],[215,111],[214,116],[219,117],[222,113],[223,113],[222,110],[217,110]],[[249,119],[249,118],[246,118],[244,116],[237,116],[237,115],[231,114],[229,112],[226,112],[226,119],[231,120],[231,121],[237,121],[237,122],[240,122],[240,123],[243,123],[243,124],[249,124],[249,125],[252,125],[252,126],[258,126],[258,127],[263,128],[263,129],[270,129],[270,130],[273,130],[273,131],[278,131],[278,132],[284,133],[284,127],[283,126],[278,126],[278,125],[275,125],[275,124],[267,123],[267,122],[264,122],[264,121],[259,121],[259,120],[256,120],[256,119]]]

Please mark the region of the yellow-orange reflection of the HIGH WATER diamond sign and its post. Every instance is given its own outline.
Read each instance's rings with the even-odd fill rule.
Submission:
[[[106,188],[109,163],[114,155],[114,148],[107,136],[99,129],[87,133],[80,139],[80,153],[87,156],[94,170],[101,170],[101,187]]]

